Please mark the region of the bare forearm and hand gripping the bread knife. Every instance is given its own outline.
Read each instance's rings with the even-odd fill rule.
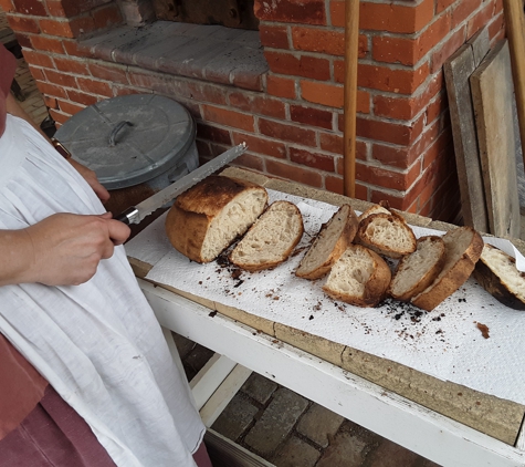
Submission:
[[[113,256],[129,228],[102,216],[55,214],[21,230],[0,230],[0,286],[77,286]]]

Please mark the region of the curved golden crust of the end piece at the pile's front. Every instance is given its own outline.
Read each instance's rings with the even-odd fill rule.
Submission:
[[[376,307],[386,295],[391,280],[390,268],[379,255],[361,245],[350,245],[348,249],[363,249],[374,261],[374,273],[365,284],[363,298],[338,292],[326,287],[326,284],[323,286],[323,290],[335,300],[340,300],[348,304],[361,308]]]

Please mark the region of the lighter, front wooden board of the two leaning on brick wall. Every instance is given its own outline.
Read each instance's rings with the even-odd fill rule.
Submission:
[[[492,49],[472,73],[477,143],[491,234],[519,238],[514,87],[506,40]]]

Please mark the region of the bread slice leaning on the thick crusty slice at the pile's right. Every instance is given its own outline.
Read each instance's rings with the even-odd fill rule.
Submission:
[[[399,260],[387,293],[408,301],[429,287],[443,268],[444,241],[438,236],[421,237],[416,251]]]

